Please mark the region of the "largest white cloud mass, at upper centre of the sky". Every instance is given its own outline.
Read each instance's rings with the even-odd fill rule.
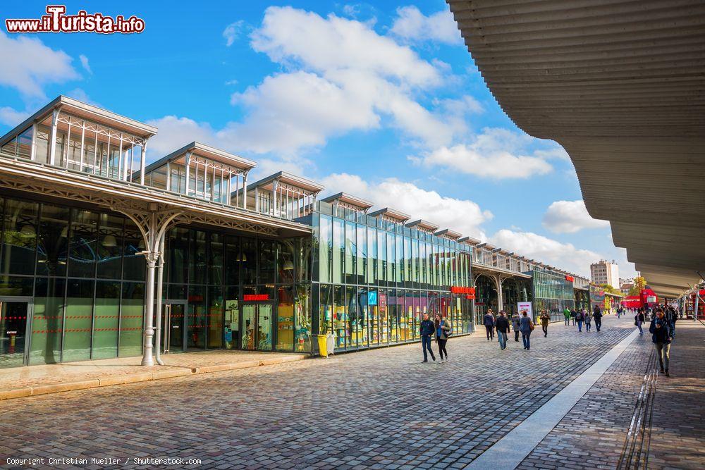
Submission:
[[[251,45],[283,71],[232,95],[231,103],[244,111],[242,120],[217,130],[189,123],[225,149],[290,160],[330,137],[382,125],[398,128],[411,144],[438,147],[466,132],[465,113],[481,108],[471,97],[438,101],[433,109],[419,104],[416,94],[443,83],[441,66],[367,23],[270,7]],[[167,116],[160,127],[173,125],[176,130],[167,133],[180,135],[183,120],[188,118]]]

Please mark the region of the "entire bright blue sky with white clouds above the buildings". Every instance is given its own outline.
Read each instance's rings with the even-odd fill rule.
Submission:
[[[0,30],[0,132],[58,94],[157,125],[149,159],[200,140],[589,275],[620,261],[551,141],[503,113],[443,0],[66,2],[145,31]],[[46,4],[4,4],[39,18]]]

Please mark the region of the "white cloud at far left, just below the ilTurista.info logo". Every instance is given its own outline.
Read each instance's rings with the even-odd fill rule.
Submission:
[[[36,38],[9,37],[0,32],[0,85],[13,87],[27,97],[44,98],[42,86],[80,78],[71,57]]]

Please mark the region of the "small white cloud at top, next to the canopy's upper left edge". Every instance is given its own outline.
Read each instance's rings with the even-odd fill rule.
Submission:
[[[448,8],[424,16],[415,6],[397,8],[398,17],[391,27],[391,34],[410,42],[434,41],[443,44],[462,44],[458,25]]]

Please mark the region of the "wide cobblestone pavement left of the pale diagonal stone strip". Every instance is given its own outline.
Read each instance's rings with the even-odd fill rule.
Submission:
[[[633,328],[603,323],[600,333],[554,323],[548,338],[537,329],[529,352],[513,338],[505,351],[484,333],[453,338],[446,364],[422,364],[420,345],[404,345],[0,402],[0,459],[44,457],[46,466],[73,457],[88,462],[63,468],[92,469],[123,468],[128,457],[219,469],[462,468]]]

